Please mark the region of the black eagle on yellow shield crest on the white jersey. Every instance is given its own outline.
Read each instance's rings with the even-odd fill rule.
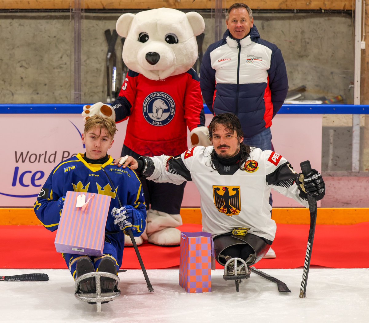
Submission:
[[[241,211],[239,186],[214,186],[214,204],[218,211],[228,216],[238,215]]]

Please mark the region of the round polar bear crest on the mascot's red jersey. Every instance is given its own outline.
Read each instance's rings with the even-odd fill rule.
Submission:
[[[142,106],[145,120],[153,126],[165,126],[173,120],[176,104],[173,98],[164,92],[153,92],[146,96]]]

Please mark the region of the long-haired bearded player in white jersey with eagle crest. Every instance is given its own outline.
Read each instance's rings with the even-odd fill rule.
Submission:
[[[276,152],[243,144],[234,114],[217,114],[209,136],[213,146],[191,148],[178,158],[123,157],[115,163],[129,165],[155,182],[193,181],[201,197],[203,230],[213,236],[216,260],[225,265],[230,258],[241,258],[249,267],[261,260],[275,238],[270,190],[308,207],[307,194],[323,198],[324,181],[315,169],[304,178]]]

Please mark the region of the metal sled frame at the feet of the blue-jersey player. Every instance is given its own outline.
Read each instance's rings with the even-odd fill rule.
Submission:
[[[96,293],[86,293],[82,294],[79,292],[79,284],[83,279],[86,278],[95,278],[96,282]],[[109,293],[103,293],[101,292],[101,282],[100,278],[111,278],[116,281],[114,292]],[[79,276],[75,281],[75,296],[77,299],[82,300],[83,302],[88,302],[89,304],[96,304],[96,311],[101,312],[101,303],[107,303],[110,302],[113,299],[116,299],[120,296],[120,290],[118,287],[118,284],[120,282],[120,279],[117,275],[111,274],[110,272],[103,272],[103,271],[97,271],[97,272],[89,272],[87,274],[84,274],[82,276]]]

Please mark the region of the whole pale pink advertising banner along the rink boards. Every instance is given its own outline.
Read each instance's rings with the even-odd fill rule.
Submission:
[[[206,126],[212,117],[206,114]],[[301,126],[302,120],[309,127],[308,133]],[[32,207],[52,169],[85,152],[81,140],[84,123],[79,113],[0,114],[0,207]],[[127,121],[117,124],[114,144],[108,151],[113,158],[121,155],[126,127]],[[271,129],[275,151],[296,172],[300,172],[300,162],[307,159],[313,168],[321,170],[321,114],[277,114]],[[273,207],[301,207],[273,190],[272,196]],[[199,191],[192,182],[186,184],[182,207],[200,207]]]

